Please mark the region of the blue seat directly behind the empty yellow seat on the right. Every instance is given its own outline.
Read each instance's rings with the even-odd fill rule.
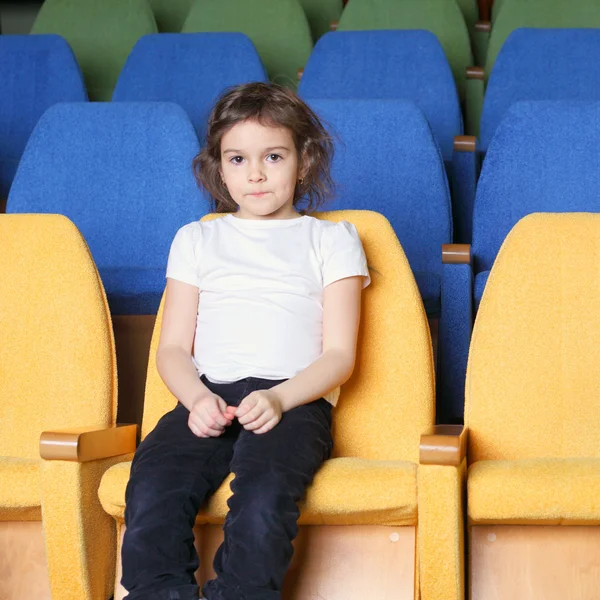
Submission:
[[[466,253],[473,283],[470,276],[460,283],[462,290],[473,290],[475,307],[502,242],[519,219],[534,212],[600,212],[599,144],[600,103],[519,102],[509,109],[490,144],[477,186],[473,244]],[[453,271],[458,266],[464,267],[444,268]],[[472,328],[471,304],[452,306],[458,309],[451,317],[454,339],[460,337],[462,344]],[[466,362],[455,367],[464,377]]]

